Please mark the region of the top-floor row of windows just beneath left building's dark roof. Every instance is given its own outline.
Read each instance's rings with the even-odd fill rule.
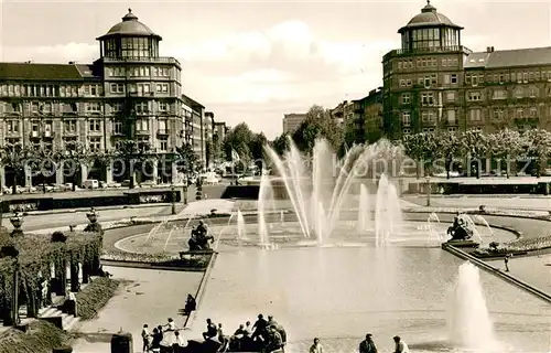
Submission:
[[[104,88],[100,84],[84,85],[0,85],[1,97],[100,97]]]

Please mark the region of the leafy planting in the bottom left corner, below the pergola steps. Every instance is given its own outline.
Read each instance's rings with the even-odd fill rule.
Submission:
[[[26,332],[9,329],[0,336],[2,353],[52,353],[56,347],[68,345],[68,334],[43,320],[31,322]]]

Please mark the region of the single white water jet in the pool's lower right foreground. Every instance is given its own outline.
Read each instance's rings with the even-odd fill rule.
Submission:
[[[494,324],[480,285],[478,268],[460,266],[457,281],[450,301],[449,330],[451,342],[468,351],[496,347]]]

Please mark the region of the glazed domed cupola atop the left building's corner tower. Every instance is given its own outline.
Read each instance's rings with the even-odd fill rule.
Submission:
[[[104,35],[100,43],[101,57],[107,58],[153,58],[159,57],[161,35],[138,21],[138,17],[128,9],[128,13]]]

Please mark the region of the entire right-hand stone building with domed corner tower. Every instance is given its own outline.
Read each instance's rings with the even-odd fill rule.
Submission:
[[[474,53],[462,30],[430,1],[398,30],[382,57],[386,135],[548,128],[551,47]]]

